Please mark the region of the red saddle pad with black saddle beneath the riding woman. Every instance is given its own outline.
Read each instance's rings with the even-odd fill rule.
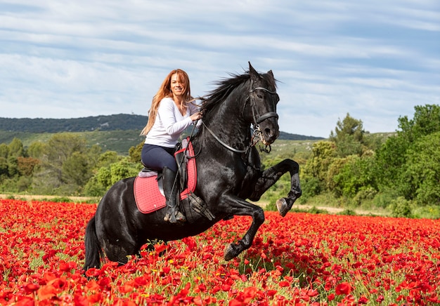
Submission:
[[[193,211],[203,215],[209,220],[214,215],[207,209],[205,203],[193,193],[197,184],[197,167],[193,145],[189,138],[183,139],[176,145],[174,158],[178,165],[178,177],[181,201],[181,211],[186,214],[187,220],[198,219]],[[145,167],[134,180],[134,199],[141,213],[153,213],[166,206],[166,199],[162,185],[162,171],[156,171]]]

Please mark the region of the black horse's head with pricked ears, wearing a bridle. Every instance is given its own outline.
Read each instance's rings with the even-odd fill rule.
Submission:
[[[280,135],[276,105],[280,98],[276,93],[276,80],[272,70],[259,74],[249,63],[250,107],[254,133],[259,133],[264,145],[271,145]]]

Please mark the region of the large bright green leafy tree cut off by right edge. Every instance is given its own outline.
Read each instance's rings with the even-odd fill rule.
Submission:
[[[413,119],[399,118],[399,128],[377,150],[378,187],[398,189],[399,195],[419,205],[439,204],[440,106],[416,106]]]

